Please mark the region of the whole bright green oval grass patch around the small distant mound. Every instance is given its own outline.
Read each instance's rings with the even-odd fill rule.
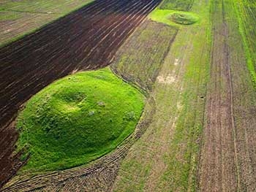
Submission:
[[[195,13],[168,9],[155,9],[151,12],[149,18],[169,26],[186,26],[199,21],[199,17]]]

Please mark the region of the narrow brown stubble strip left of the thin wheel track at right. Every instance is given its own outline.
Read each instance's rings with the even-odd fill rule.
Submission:
[[[213,3],[211,78],[200,165],[201,191],[236,191],[236,145],[233,95],[227,50],[227,24],[222,1]]]

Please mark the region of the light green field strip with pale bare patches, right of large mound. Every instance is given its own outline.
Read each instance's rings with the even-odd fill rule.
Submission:
[[[193,10],[208,18],[207,9]],[[151,93],[153,122],[124,158],[113,191],[195,191],[210,37],[207,19],[179,28]]]

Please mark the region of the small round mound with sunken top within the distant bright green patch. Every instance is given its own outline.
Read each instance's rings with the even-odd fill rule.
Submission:
[[[198,18],[187,12],[174,12],[170,15],[170,20],[180,25],[192,25],[197,23]]]

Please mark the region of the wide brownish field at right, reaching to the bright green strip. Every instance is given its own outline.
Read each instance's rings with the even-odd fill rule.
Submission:
[[[233,1],[214,1],[200,191],[255,191],[255,89]]]

